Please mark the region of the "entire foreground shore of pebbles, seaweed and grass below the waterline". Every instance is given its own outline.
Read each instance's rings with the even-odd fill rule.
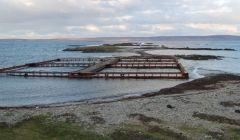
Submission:
[[[141,97],[0,108],[0,139],[240,139],[240,76],[215,75]]]

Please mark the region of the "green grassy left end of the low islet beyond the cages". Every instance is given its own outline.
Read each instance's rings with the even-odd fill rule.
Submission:
[[[117,52],[121,48],[117,46],[89,46],[89,47],[77,47],[77,48],[67,48],[64,51],[81,51],[83,53],[91,52]]]

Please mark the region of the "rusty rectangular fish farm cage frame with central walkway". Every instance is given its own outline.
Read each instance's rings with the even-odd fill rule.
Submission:
[[[56,71],[44,68],[75,68]],[[39,70],[39,68],[41,70]],[[105,79],[188,79],[188,72],[173,56],[59,58],[0,69],[1,75]]]

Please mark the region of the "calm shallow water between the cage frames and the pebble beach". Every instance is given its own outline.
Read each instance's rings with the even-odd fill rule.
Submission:
[[[4,84],[2,84],[3,81]],[[52,104],[143,94],[157,91],[166,86],[174,86],[181,82],[175,80],[1,77],[0,106]]]

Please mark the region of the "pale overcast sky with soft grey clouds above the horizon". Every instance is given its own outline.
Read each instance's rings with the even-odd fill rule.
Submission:
[[[240,35],[240,0],[0,0],[0,38]]]

